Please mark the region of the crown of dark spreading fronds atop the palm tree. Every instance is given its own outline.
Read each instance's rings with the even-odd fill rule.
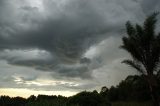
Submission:
[[[120,48],[130,53],[133,60],[125,61],[128,65],[138,71],[139,63],[143,65],[143,71],[148,74],[159,69],[160,64],[160,34],[155,35],[156,16],[158,13],[150,15],[143,26],[136,24],[133,26],[129,21],[126,23],[128,36],[122,38],[123,45]]]

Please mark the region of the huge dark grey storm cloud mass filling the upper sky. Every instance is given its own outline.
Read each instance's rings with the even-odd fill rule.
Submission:
[[[103,57],[90,60],[84,53],[109,36],[120,35],[127,20],[144,16],[140,3],[132,0],[43,0],[42,10],[26,0],[0,2],[1,59],[64,77],[91,78],[92,70],[104,65]],[[14,50],[28,49],[48,54],[13,55]]]

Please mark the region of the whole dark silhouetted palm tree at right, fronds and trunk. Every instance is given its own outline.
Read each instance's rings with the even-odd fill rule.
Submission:
[[[153,13],[142,25],[126,23],[127,35],[122,38],[122,49],[130,53],[132,59],[122,61],[145,76],[154,106],[160,106],[156,75],[160,72],[160,33],[156,34],[156,16]]]

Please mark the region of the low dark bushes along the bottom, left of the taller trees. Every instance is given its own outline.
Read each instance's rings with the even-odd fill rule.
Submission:
[[[31,95],[24,99],[21,97],[0,97],[0,106],[110,106],[97,91],[80,92],[72,97]]]

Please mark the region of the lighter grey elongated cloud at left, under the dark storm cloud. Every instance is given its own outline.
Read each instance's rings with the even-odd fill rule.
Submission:
[[[56,64],[56,58],[50,53],[42,50],[4,50],[0,53],[0,58],[7,60],[9,64],[29,67],[53,66]],[[49,67],[48,67],[49,68]]]

